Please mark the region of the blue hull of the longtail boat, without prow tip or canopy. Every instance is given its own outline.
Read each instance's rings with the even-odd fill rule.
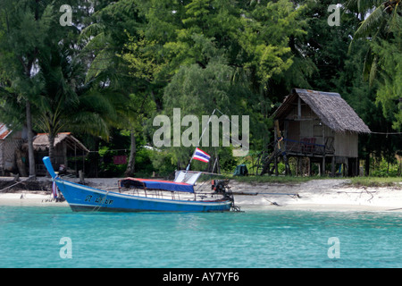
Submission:
[[[73,211],[101,212],[224,212],[230,200],[194,201],[145,198],[54,180]]]

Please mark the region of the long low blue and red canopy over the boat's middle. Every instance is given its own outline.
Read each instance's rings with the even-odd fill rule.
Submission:
[[[152,179],[125,178],[119,181],[120,187],[135,187],[140,189],[162,189],[194,193],[193,185],[185,182],[162,181]]]

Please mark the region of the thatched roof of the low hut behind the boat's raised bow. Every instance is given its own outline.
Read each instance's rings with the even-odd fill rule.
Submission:
[[[78,139],[71,135],[71,132],[58,133],[54,138],[54,147],[56,147],[61,142],[65,141],[67,147],[74,150],[82,150],[86,153],[89,152],[88,148],[85,147]],[[39,133],[33,141],[33,147],[35,151],[46,151],[49,149],[49,138],[47,133]]]

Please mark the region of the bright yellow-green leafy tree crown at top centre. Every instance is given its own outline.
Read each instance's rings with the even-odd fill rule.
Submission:
[[[163,55],[167,62],[159,73],[161,78],[165,75],[170,82],[181,69],[188,70],[193,64],[205,69],[220,58],[220,63],[232,69],[233,79],[247,81],[244,88],[248,90],[248,107],[253,114],[261,113],[259,122],[267,120],[272,108],[270,80],[290,69],[295,39],[306,34],[306,21],[301,19],[303,7],[296,8],[287,0],[166,0],[150,1],[144,7],[149,22],[145,36],[160,47],[155,48],[155,58]],[[166,94],[164,100],[168,100]],[[268,133],[266,125],[260,135]]]

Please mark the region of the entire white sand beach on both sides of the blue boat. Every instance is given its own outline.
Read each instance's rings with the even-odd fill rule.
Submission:
[[[118,179],[86,179],[94,188],[117,187]],[[242,210],[308,209],[317,211],[402,211],[399,187],[350,187],[348,179],[312,180],[297,184],[230,181]],[[0,206],[68,206],[51,201],[49,191],[0,192]]]

